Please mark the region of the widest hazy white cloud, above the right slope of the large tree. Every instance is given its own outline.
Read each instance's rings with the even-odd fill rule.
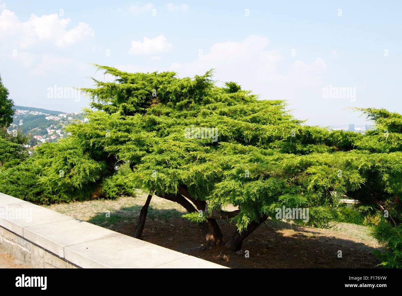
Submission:
[[[199,57],[190,63],[173,63],[170,68],[180,74],[193,76],[215,68],[217,78],[227,81],[256,83],[293,83],[297,85],[320,85],[320,77],[326,71],[326,64],[317,58],[312,64],[297,60],[290,68],[280,63],[284,58],[277,50],[268,50],[266,37],[251,35],[241,42],[226,41],[215,43],[209,52],[203,54],[200,49],[195,54]],[[236,80],[237,79],[237,80]]]

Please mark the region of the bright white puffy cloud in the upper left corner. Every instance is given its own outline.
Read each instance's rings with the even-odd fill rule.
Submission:
[[[0,14],[0,33],[16,38],[23,48],[32,45],[36,40],[49,40],[57,46],[66,46],[94,35],[94,31],[86,23],[66,29],[70,22],[71,19],[60,19],[58,14],[42,17],[31,14],[28,21],[21,22],[15,12],[4,9]]]

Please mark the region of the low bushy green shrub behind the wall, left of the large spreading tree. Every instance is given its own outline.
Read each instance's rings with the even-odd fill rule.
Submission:
[[[126,176],[111,176],[105,160],[93,159],[77,139],[37,147],[27,161],[0,172],[0,192],[33,203],[55,203],[133,194]]]

